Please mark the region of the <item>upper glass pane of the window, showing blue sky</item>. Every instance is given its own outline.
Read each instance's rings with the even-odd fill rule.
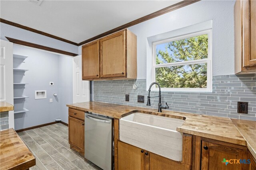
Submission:
[[[208,34],[156,45],[156,64],[208,58]]]

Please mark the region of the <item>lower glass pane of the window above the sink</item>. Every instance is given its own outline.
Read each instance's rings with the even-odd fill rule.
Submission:
[[[161,88],[207,88],[207,63],[156,68]]]

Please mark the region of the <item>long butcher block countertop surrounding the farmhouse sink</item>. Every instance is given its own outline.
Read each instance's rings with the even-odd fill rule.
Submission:
[[[145,107],[134,107],[103,102],[83,102],[67,104],[67,106],[73,109],[94,112],[117,119],[134,112],[185,119],[183,125],[181,127],[177,127],[177,131],[218,141],[234,143],[247,147],[249,146],[248,149],[251,148],[250,151],[256,158],[256,121],[236,121],[236,119],[230,119],[228,117],[214,117],[193,113],[168,111],[164,109],[162,109],[162,113],[159,113],[157,112],[157,109],[145,108],[146,104]],[[248,124],[250,124],[250,128],[247,128],[248,126],[246,125]]]

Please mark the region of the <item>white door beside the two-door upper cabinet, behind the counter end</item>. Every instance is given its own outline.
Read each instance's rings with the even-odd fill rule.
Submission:
[[[82,55],[73,58],[73,103],[90,101],[90,81],[82,80]]]

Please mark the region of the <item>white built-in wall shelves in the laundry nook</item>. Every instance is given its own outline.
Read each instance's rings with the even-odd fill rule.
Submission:
[[[25,63],[24,60],[28,58],[28,56],[24,55],[13,55],[13,61],[18,65],[21,63]],[[28,109],[24,108],[24,100],[25,98],[28,98],[29,96],[24,96],[23,90],[28,83],[22,83],[22,82],[17,82],[22,79],[21,76],[24,76],[20,74],[19,72],[26,72],[28,69],[22,69],[22,68],[13,68],[13,74],[16,74],[16,76],[20,76],[20,78],[14,78],[14,83],[13,83],[13,88],[14,88],[14,113],[25,113],[26,111],[29,111]],[[15,77],[15,76],[14,76]],[[23,95],[22,95],[23,94]],[[15,117],[14,117],[15,118]]]

